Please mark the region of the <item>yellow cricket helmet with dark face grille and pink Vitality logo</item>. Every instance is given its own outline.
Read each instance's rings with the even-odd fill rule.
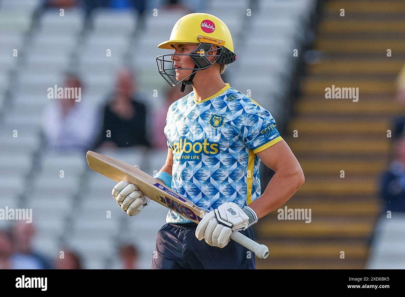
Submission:
[[[209,36],[205,36],[209,34]],[[232,36],[225,23],[207,13],[190,13],[179,19],[170,34],[169,40],[158,45],[158,48],[174,49],[173,44],[199,44],[195,51],[190,54],[168,54],[156,57],[156,65],[160,75],[170,84],[176,86],[182,83],[181,91],[184,91],[185,84],[192,84],[194,75],[198,70],[211,67],[214,63],[230,64],[236,60],[234,54]],[[213,45],[217,48],[213,48]],[[213,51],[219,54],[212,55]],[[176,80],[174,61],[170,58],[173,55],[188,55],[194,61],[194,68],[184,68],[193,70],[192,73],[182,80]],[[207,57],[216,57],[211,62]],[[188,80],[186,80],[188,78]]]

